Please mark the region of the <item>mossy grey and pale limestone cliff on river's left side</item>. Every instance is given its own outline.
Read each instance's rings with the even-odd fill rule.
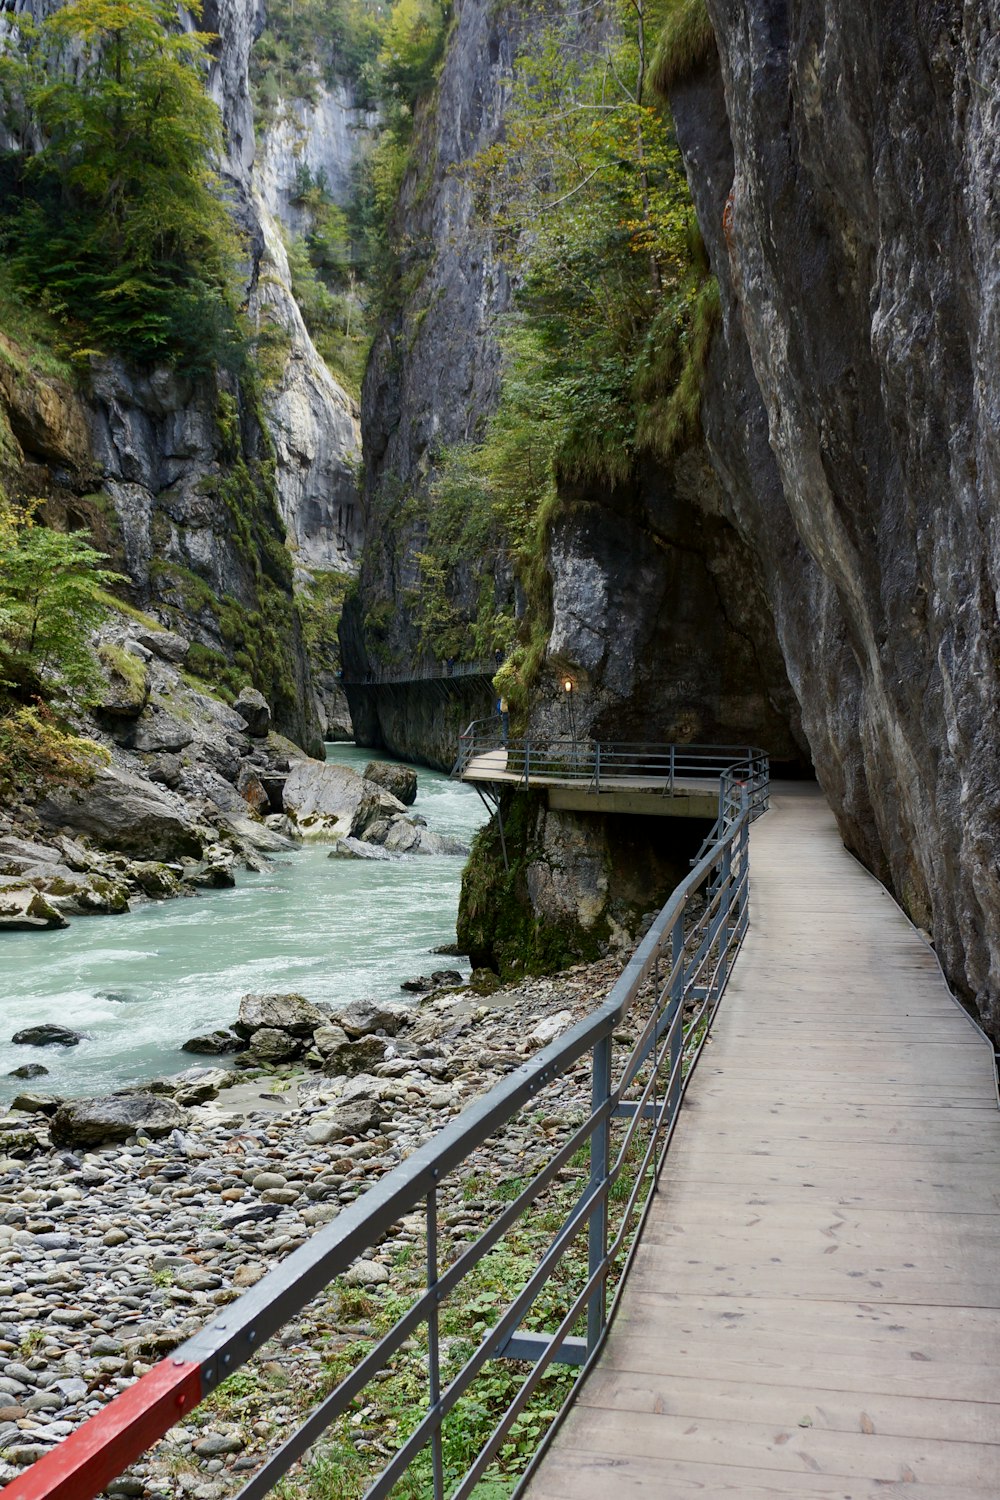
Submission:
[[[54,8],[16,6],[39,20]],[[13,492],[46,495],[57,522],[61,512],[96,531],[132,578],[136,602],[202,650],[252,660],[279,726],[315,747],[313,682],[283,544],[300,570],[354,568],[358,410],[312,345],[279,225],[258,192],[249,62],[264,8],[208,0],[201,24],[219,36],[208,88],[222,111],[220,170],[246,243],[246,310],[277,334],[279,369],[250,388],[94,360],[73,392],[7,351],[0,418],[13,442],[1,456]],[[327,156],[340,146],[328,142]],[[294,172],[279,147],[267,160],[271,189],[282,171]]]

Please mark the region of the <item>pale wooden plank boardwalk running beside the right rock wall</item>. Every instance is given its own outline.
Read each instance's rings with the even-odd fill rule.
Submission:
[[[751,928],[528,1500],[1000,1496],[1000,1114],[930,948],[777,786]]]

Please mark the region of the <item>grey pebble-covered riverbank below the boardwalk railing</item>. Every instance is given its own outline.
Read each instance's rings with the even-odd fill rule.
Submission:
[[[52,1149],[40,1114],[0,1120],[0,1479],[46,1452],[471,1098],[591,1011],[619,972],[621,958],[607,958],[489,998],[430,996],[370,1072],[240,1082],[187,1110],[183,1126],[160,1140]],[[546,1095],[544,1118],[525,1116],[445,1186],[445,1248],[448,1236],[468,1238],[495,1214],[477,1196],[477,1173],[493,1182],[523,1174],[583,1116],[588,1094],[585,1060]],[[403,1222],[343,1284],[390,1282],[418,1238]],[[336,1299],[316,1305],[274,1341],[264,1370],[277,1394],[264,1406],[247,1390],[243,1406],[232,1396],[202,1410],[109,1492],[219,1500],[237,1490],[306,1394],[315,1400],[316,1335],[334,1347],[358,1336],[358,1310],[342,1311],[339,1318]]]

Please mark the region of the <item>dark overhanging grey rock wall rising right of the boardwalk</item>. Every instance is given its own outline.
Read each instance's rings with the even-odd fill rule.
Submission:
[[[708,3],[715,468],[849,846],[1000,1035],[1000,12]]]

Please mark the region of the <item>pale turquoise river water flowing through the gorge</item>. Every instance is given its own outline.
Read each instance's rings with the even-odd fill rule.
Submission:
[[[328,746],[363,770],[370,750]],[[486,813],[475,792],[417,768],[414,813],[438,832],[471,840]],[[231,1024],[250,990],[295,990],[310,1000],[400,996],[400,981],[433,968],[454,942],[462,858],[330,860],[306,844],[271,872],[241,872],[235,890],[145,903],[123,916],[76,916],[54,933],[0,939],[0,1101],[24,1088],[6,1074],[40,1062],[33,1088],[97,1094],[213,1058],[180,1044]],[[13,1047],[22,1026],[57,1022],[84,1032],[76,1047]],[[219,1059],[225,1062],[225,1059]]]

